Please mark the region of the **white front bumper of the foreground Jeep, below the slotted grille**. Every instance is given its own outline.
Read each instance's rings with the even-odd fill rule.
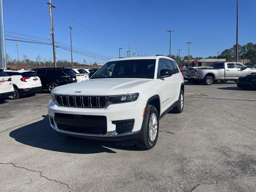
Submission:
[[[140,134],[140,129],[143,121],[143,110],[146,106],[146,102],[143,102],[138,98],[134,102],[120,103],[120,104],[110,104],[107,108],[74,108],[74,107],[60,107],[57,106],[55,102],[50,102],[48,105],[48,114],[50,126],[56,132],[60,134],[66,134],[69,136],[80,137],[80,138],[90,138],[98,140],[129,140],[137,138]],[[68,114],[70,116],[105,116],[106,117],[106,132],[104,134],[92,134],[92,133],[83,133],[70,130],[64,130],[58,128],[58,114]],[[57,115],[57,116],[56,116]],[[52,118],[52,119],[51,119]],[[125,122],[127,120],[134,120],[133,126],[129,131],[118,132],[117,122]],[[57,122],[58,123],[57,123]],[[70,122],[63,121],[64,124],[70,124],[74,126],[91,126],[95,127],[91,120],[88,122],[80,121],[80,119],[72,119]],[[59,124],[60,125],[60,124]],[[71,126],[72,126],[71,125]],[[62,124],[63,126],[63,124]],[[61,126],[59,126],[61,127]],[[97,128],[97,127],[96,127]]]

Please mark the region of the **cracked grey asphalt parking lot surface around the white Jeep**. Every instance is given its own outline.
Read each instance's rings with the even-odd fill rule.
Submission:
[[[186,83],[183,113],[160,120],[148,151],[59,137],[50,97],[0,104],[0,191],[256,191],[256,91]]]

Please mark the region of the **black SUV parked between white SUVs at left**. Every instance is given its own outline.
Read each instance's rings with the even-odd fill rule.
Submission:
[[[48,67],[32,69],[36,72],[42,83],[42,90],[53,90],[60,85],[77,82],[76,74],[70,68]]]

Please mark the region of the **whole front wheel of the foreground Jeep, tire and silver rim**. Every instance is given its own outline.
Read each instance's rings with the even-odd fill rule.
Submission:
[[[153,105],[146,106],[140,135],[136,141],[136,146],[141,149],[152,149],[157,142],[159,132],[159,116]]]

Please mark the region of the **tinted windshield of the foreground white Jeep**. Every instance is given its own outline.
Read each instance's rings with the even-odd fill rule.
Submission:
[[[91,79],[98,78],[146,78],[153,79],[155,59],[119,60],[107,62]]]

